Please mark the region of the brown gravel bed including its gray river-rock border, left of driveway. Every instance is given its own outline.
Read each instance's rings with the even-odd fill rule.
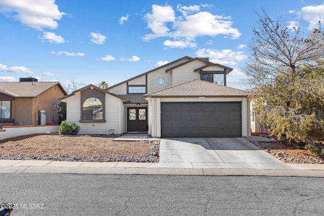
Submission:
[[[0,159],[158,162],[159,142],[113,141],[113,135],[28,135],[0,141]]]

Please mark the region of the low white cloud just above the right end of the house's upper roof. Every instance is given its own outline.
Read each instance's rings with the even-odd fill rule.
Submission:
[[[215,49],[200,49],[196,51],[198,57],[209,57],[211,62],[232,66],[237,65],[238,61],[248,58],[244,52],[234,52],[232,50],[215,50]]]

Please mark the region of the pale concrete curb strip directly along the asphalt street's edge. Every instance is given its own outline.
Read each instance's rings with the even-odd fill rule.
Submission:
[[[295,170],[295,169],[1,166],[0,173],[2,174],[171,175],[171,176],[271,176],[271,177],[324,178],[324,170],[310,170],[310,169]]]

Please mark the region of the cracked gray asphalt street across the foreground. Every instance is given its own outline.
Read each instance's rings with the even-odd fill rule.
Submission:
[[[323,178],[2,174],[11,215],[323,215]]]

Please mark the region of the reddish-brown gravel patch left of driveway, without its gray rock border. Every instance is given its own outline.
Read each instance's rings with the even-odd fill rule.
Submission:
[[[29,135],[0,141],[1,155],[66,154],[66,155],[143,155],[150,154],[147,142],[112,141],[107,136],[61,137],[57,133]]]

